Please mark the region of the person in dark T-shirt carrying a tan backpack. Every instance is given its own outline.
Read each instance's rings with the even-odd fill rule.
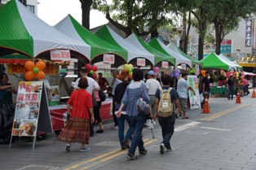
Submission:
[[[161,134],[163,137],[163,141],[160,144],[160,153],[165,153],[166,151],[170,151],[170,138],[174,133],[174,124],[175,124],[175,116],[174,116],[174,103],[179,108],[180,113],[183,113],[180,103],[179,103],[179,95],[176,89],[171,88],[171,78],[169,75],[164,74],[161,76],[161,82],[163,86],[157,89],[155,97],[156,100],[156,113],[157,115],[153,115],[153,118],[158,118],[158,122],[161,126]]]

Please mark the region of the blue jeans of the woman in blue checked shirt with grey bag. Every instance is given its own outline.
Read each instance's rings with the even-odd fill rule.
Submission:
[[[142,140],[142,130],[145,122],[146,116],[143,116],[143,114],[138,114],[137,116],[130,116],[131,127],[135,129],[134,137],[132,138],[132,141],[130,143],[130,150],[128,151],[128,153],[131,155],[135,155],[135,150],[137,146],[139,147],[139,150],[145,150],[143,146],[144,142]]]

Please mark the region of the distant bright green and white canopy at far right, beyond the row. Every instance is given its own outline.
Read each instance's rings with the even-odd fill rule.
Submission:
[[[201,59],[201,62],[204,64],[204,68],[219,68],[226,71],[234,68],[234,65],[232,63],[228,63],[214,52],[211,52],[204,59]]]

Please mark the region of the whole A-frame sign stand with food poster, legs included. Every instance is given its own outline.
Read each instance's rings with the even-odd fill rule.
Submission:
[[[34,149],[39,131],[54,138],[45,86],[42,81],[20,81],[11,141],[13,136],[33,137]]]

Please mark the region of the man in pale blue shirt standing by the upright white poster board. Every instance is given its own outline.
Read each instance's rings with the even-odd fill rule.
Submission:
[[[187,80],[188,80],[188,74],[183,73],[177,83],[177,92],[179,94],[179,102],[183,110],[183,119],[189,119],[189,117],[186,115],[188,90],[192,90],[194,96],[196,95],[194,89],[192,89],[192,87],[188,84]]]

